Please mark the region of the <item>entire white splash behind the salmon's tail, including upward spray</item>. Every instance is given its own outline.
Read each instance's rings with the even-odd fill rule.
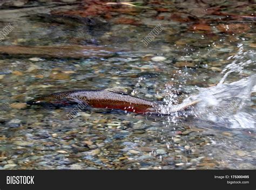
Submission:
[[[253,109],[251,95],[256,91],[256,74],[239,81],[225,83],[231,73],[244,74],[245,68],[254,66],[256,63],[255,51],[245,52],[242,44],[239,44],[238,47],[238,53],[227,58],[232,62],[221,72],[221,74],[225,74],[217,86],[210,88],[197,87],[197,95],[191,95],[177,105],[170,103],[175,102],[172,99],[177,96],[166,90],[170,97],[166,102],[169,101],[169,103],[161,106],[161,113],[172,115],[172,121],[176,121],[175,118],[180,116],[178,110],[196,102],[197,105],[183,116],[193,116],[198,121],[213,122],[215,125],[226,128],[255,129],[256,111]]]

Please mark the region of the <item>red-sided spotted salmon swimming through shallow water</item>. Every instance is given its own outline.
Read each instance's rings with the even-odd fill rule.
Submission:
[[[119,109],[138,114],[159,113],[161,107],[159,102],[130,96],[127,94],[127,89],[120,87],[103,90],[73,90],[53,93],[37,97],[26,103],[33,105],[43,103],[67,104],[68,102],[82,103],[92,108]],[[179,108],[175,111],[184,108]]]

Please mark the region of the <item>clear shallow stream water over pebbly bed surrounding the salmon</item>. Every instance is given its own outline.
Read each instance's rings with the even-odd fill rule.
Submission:
[[[255,4],[92,2],[0,10],[0,168],[255,169]],[[163,115],[24,104],[119,86]]]

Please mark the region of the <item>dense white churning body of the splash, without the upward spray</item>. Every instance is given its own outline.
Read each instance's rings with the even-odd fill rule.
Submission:
[[[236,82],[201,88],[198,95],[190,96],[184,102],[200,101],[192,112],[197,119],[227,128],[255,128],[255,110],[251,101],[255,81],[256,74]]]

